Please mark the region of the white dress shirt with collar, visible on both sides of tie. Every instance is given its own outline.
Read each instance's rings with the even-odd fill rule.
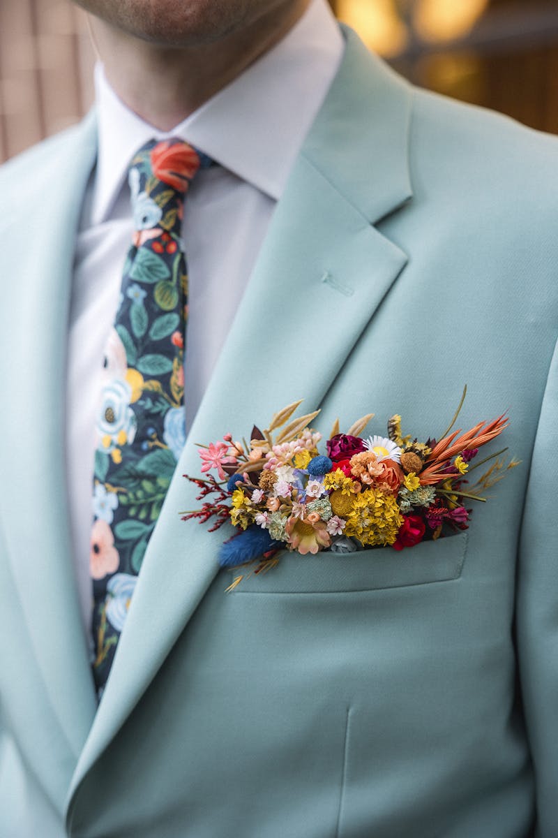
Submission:
[[[343,53],[325,0],[236,80],[163,133],[143,122],[95,70],[99,151],[84,200],[69,321],[67,470],[79,598],[89,634],[95,416],[104,347],[131,244],[128,164],[152,138],[182,137],[216,163],[188,192],[182,238],[189,275],[185,414],[192,424],[294,158]]]

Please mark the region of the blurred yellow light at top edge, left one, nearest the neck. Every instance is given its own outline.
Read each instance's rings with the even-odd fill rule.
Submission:
[[[338,0],[337,16],[356,29],[367,46],[388,58],[407,46],[407,26],[395,0]]]

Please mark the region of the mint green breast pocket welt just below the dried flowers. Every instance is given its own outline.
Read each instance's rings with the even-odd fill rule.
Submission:
[[[463,531],[422,541],[402,551],[376,547],[347,554],[283,553],[269,571],[246,573],[233,594],[348,593],[448,582],[461,575],[467,535]]]

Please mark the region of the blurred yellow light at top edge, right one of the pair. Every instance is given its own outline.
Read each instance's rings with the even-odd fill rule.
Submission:
[[[414,8],[414,27],[425,41],[463,38],[488,5],[489,0],[420,0]]]

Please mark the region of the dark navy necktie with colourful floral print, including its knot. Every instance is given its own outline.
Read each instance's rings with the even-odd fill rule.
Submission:
[[[153,140],[129,170],[136,231],[106,348],[95,451],[90,568],[99,693],[186,439],[182,208],[192,178],[209,164],[182,140]]]

